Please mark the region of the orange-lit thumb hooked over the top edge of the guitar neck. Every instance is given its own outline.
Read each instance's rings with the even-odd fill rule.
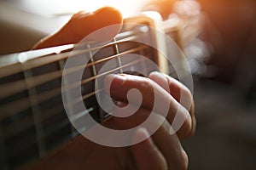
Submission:
[[[82,11],[73,14],[72,18],[61,30],[38,42],[33,49],[77,43],[93,31],[97,31],[106,26],[112,26],[111,30],[108,30],[108,34],[106,31],[103,31],[100,35],[94,35],[94,37],[92,37],[96,38],[96,40],[107,41],[112,39],[119,32],[122,20],[122,15],[119,10],[112,7],[99,8],[93,13]]]

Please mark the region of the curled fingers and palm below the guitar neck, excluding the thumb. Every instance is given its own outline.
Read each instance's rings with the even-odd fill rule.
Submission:
[[[108,78],[106,83],[108,83]],[[170,94],[166,92],[163,82],[168,83],[168,88],[171,89]],[[119,99],[125,103],[126,92],[131,88],[137,88],[144,97],[147,97],[143,100],[142,108],[129,117],[113,117],[108,122],[104,122],[104,125],[113,129],[127,129],[143,122],[151,112],[151,99],[154,98],[151,92],[154,89],[159,95],[157,98],[165,99],[161,102],[170,104],[171,109],[163,124],[162,120],[165,117],[161,115],[161,111],[154,114],[150,125],[160,125],[160,128],[152,137],[149,137],[146,127],[140,127],[132,135],[131,140],[144,139],[143,142],[128,147],[114,148],[93,143],[89,139],[79,136],[63,150],[45,158],[44,163],[33,169],[48,169],[50,167],[56,169],[186,169],[188,156],[178,137],[185,138],[195,132],[193,99],[189,90],[171,77],[153,72],[148,78],[131,75],[114,76],[111,83],[111,96],[113,99]],[[184,105],[178,103],[182,93],[188,99]],[[177,113],[177,108],[180,107],[183,109]],[[115,112],[117,115],[125,114],[125,112],[119,112],[119,109]],[[172,119],[176,113],[186,118],[177,134],[171,134],[170,129],[172,127],[170,124],[172,124]]]

